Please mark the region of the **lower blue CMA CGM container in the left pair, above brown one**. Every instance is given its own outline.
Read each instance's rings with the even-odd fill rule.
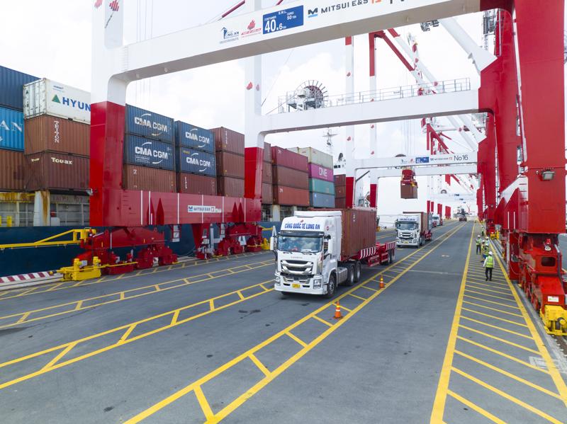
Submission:
[[[169,143],[126,134],[124,137],[126,164],[174,170],[174,151]]]

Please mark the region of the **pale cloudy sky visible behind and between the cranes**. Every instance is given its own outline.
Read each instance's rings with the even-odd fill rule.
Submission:
[[[94,0],[19,0],[2,6],[4,20],[0,27],[0,64],[38,77],[82,88],[91,86],[91,8]],[[235,0],[123,0],[125,8],[125,43],[172,33],[213,21],[235,4]],[[283,5],[289,3],[283,2]],[[264,0],[263,6],[273,6],[276,0]],[[6,10],[8,9],[8,10]],[[7,19],[7,16],[11,18]],[[471,38],[483,43],[481,14],[459,16],[457,21]],[[419,25],[397,28],[405,38],[417,36],[420,59],[437,80],[469,78],[478,88],[478,74],[466,53],[444,28],[432,28],[424,33]],[[378,88],[415,84],[412,76],[388,49],[377,42]],[[355,91],[369,90],[368,38],[354,38]],[[150,53],[151,54],[151,53]],[[303,81],[317,80],[330,95],[345,92],[344,40],[333,40],[264,55],[263,113],[277,106],[277,99],[293,91]],[[140,81],[128,87],[127,102],[172,116],[201,127],[229,127],[243,132],[245,93],[244,62],[232,61],[190,71]],[[444,122],[444,118],[440,118]],[[378,157],[396,154],[425,154],[425,134],[418,121],[398,121],[379,124]],[[334,128],[335,157],[344,151],[345,128]],[[312,146],[327,150],[325,130],[272,134],[266,142],[281,147]],[[459,134],[449,134],[455,152],[466,151]],[[369,126],[355,128],[355,155],[369,152]],[[459,145],[461,144],[461,145]],[[385,221],[388,215],[402,210],[425,210],[427,180],[419,178],[419,198],[401,200],[398,178],[382,179],[378,186],[378,213]],[[368,181],[366,181],[367,187]],[[454,185],[449,191],[455,190]],[[476,211],[473,202],[467,204]],[[456,204],[454,205],[456,206]]]

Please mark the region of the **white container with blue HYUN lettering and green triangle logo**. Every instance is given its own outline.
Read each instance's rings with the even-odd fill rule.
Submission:
[[[46,78],[26,84],[23,86],[23,118],[40,115],[90,124],[91,93]]]

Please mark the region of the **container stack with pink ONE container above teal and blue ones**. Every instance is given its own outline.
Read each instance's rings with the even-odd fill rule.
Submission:
[[[313,147],[295,147],[290,150],[307,158],[309,205],[311,207],[335,207],[332,156],[313,149]]]

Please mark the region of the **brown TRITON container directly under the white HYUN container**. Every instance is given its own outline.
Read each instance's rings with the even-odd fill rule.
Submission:
[[[89,156],[90,125],[49,115],[26,120],[26,154],[40,151],[61,151],[62,153]]]

